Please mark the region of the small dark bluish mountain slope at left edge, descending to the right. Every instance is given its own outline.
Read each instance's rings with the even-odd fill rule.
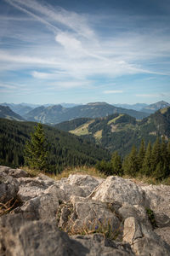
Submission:
[[[10,108],[0,105],[0,118],[23,121],[24,119],[17,113],[14,113]]]

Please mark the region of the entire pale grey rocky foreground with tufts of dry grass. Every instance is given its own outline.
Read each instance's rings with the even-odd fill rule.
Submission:
[[[0,255],[168,256],[170,186],[0,166]],[[64,230],[64,231],[63,231]]]

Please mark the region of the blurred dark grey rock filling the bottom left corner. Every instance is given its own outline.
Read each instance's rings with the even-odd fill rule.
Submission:
[[[0,219],[2,256],[85,256],[88,252],[80,242],[58,230],[54,220],[26,221],[20,214]]]

